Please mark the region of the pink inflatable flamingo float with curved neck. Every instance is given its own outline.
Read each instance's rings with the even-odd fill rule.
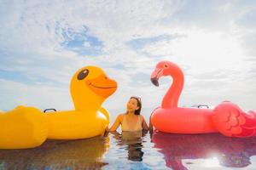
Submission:
[[[159,86],[160,77],[172,76],[162,104],[151,116],[153,126],[165,133],[222,133],[229,137],[251,137],[256,135],[256,113],[241,109],[224,101],[212,109],[177,107],[183,90],[183,71],[170,61],[160,61],[151,74],[151,82]]]

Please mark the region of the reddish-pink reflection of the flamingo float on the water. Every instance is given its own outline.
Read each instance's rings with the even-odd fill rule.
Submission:
[[[185,135],[155,131],[152,142],[154,148],[160,149],[164,155],[166,166],[172,169],[187,169],[193,162],[185,164],[183,160],[189,159],[208,159],[222,167],[247,167],[251,164],[250,157],[256,156],[256,138],[234,139],[218,133]]]

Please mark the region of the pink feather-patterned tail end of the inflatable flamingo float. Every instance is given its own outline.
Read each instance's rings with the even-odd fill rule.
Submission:
[[[245,113],[230,102],[223,102],[213,110],[212,120],[220,133],[230,137],[251,137],[256,135],[256,113]]]

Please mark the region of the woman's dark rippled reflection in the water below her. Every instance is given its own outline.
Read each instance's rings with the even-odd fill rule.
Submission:
[[[127,150],[127,158],[131,161],[143,161],[143,137],[147,131],[138,132],[112,132],[113,138],[116,139],[116,144],[119,147],[125,147]]]

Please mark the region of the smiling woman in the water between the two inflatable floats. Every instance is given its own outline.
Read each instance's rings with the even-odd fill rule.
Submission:
[[[141,114],[141,98],[132,96],[126,104],[126,113],[117,116],[109,131],[116,131],[121,124],[122,131],[137,132],[148,130],[148,125]]]

